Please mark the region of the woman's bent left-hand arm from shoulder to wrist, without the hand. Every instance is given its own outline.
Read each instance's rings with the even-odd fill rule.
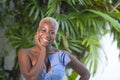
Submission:
[[[21,49],[18,52],[18,61],[21,73],[27,80],[37,80],[43,69],[45,54],[39,55],[38,61],[34,66],[32,66],[30,58],[27,54],[28,53],[25,49]]]

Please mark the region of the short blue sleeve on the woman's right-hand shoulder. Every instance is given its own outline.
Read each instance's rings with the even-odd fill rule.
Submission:
[[[65,53],[64,51],[62,51],[60,53],[60,60],[61,60],[61,63],[66,66],[70,61],[71,59],[69,58],[68,54]]]

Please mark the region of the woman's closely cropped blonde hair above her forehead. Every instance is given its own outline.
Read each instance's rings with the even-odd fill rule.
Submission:
[[[39,30],[39,28],[40,28],[40,26],[43,24],[43,23],[45,23],[45,22],[50,22],[50,24],[52,25],[52,26],[54,26],[55,27],[55,32],[57,33],[57,31],[58,31],[58,22],[54,19],[54,18],[52,18],[52,17],[45,17],[45,18],[43,18],[41,21],[40,21],[40,23],[39,23],[39,27],[38,27],[38,30]]]

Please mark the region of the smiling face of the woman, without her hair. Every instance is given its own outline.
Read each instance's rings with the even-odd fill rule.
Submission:
[[[49,46],[53,43],[56,33],[55,26],[50,23],[41,24],[38,30],[38,38],[42,46]]]

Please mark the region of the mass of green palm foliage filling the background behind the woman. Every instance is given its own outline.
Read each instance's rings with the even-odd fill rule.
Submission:
[[[17,54],[20,48],[34,45],[39,21],[46,16],[54,17],[59,23],[54,46],[77,55],[94,75],[98,63],[107,60],[105,53],[101,57],[98,52],[102,48],[101,37],[110,32],[120,48],[120,8],[116,3],[118,0],[2,0],[0,27],[5,27],[8,42]],[[14,80],[18,77],[15,73],[19,73],[17,55],[15,61],[11,76]],[[76,76],[73,72],[69,78],[74,80]]]

